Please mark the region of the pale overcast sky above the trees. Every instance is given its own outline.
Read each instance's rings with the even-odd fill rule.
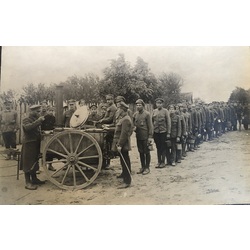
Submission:
[[[72,75],[84,76],[109,66],[123,53],[133,66],[143,58],[156,75],[182,76],[182,92],[206,102],[227,101],[236,86],[250,88],[249,47],[3,47],[1,91],[21,89],[27,83],[60,83]]]

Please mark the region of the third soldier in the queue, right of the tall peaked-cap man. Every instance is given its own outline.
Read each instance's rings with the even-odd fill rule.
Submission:
[[[177,143],[181,141],[181,119],[180,116],[176,113],[174,105],[169,105],[169,113],[171,119],[171,155],[170,155],[170,164],[175,166],[175,162],[177,159]]]

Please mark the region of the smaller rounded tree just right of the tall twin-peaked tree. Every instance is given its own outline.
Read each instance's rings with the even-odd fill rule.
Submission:
[[[181,87],[183,79],[175,73],[167,74],[163,72],[159,76],[159,90],[161,97],[165,100],[165,106],[176,104],[181,101]]]

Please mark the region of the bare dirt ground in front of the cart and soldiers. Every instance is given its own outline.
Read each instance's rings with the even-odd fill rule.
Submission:
[[[0,155],[0,204],[31,205],[210,205],[250,203],[249,130],[228,132],[200,149],[188,152],[175,167],[156,169],[152,151],[151,173],[138,175],[139,155],[132,136],[132,186],[118,189],[119,159],[110,170],[102,170],[83,190],[61,190],[49,181],[35,191],[24,188],[24,175],[17,180],[16,161]],[[1,147],[0,150],[4,148]],[[45,172],[39,178],[46,179]]]

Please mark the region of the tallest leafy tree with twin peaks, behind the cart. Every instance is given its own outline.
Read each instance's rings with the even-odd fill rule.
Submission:
[[[156,77],[150,72],[148,64],[140,57],[137,58],[135,67],[125,60],[123,54],[117,59],[112,59],[110,66],[103,71],[104,78],[99,84],[100,96],[113,94],[122,95],[129,103],[138,98],[149,101],[153,98],[156,87]]]

